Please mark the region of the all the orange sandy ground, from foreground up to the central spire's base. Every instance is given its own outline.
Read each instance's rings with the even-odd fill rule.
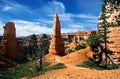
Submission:
[[[67,68],[52,70],[32,79],[120,79],[120,69],[95,70],[76,66],[76,64],[82,63],[91,57],[90,55],[91,52],[88,49],[83,49],[63,57],[47,55],[46,57],[53,65],[64,63]]]

